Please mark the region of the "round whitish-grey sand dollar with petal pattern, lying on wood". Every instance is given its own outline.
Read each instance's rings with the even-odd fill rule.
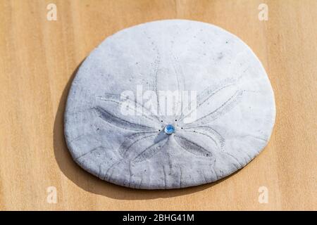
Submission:
[[[190,110],[123,115],[120,94],[137,96],[140,86],[141,93],[197,91],[196,120],[185,122]],[[146,101],[130,101],[152,112]],[[184,188],[247,165],[268,143],[274,121],[268,76],[243,41],[207,23],[161,20],[113,34],[92,51],[70,88],[65,135],[75,162],[100,179]],[[163,132],[166,124],[173,134]]]

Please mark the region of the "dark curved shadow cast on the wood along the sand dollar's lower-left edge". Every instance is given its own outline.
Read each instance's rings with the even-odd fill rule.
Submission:
[[[80,63],[80,65],[81,64],[82,63]],[[68,83],[66,84],[65,89],[63,90],[54,121],[54,155],[58,163],[58,167],[61,169],[63,174],[65,174],[68,179],[73,181],[77,186],[84,189],[85,191],[115,199],[142,200],[154,198],[171,198],[174,196],[188,195],[190,193],[203,191],[206,188],[211,188],[212,186],[230,178],[230,176],[237,173],[235,172],[232,175],[212,184],[204,184],[182,189],[142,190],[117,186],[107,181],[103,181],[96,176],[89,174],[89,172],[86,172],[79,165],[77,165],[77,163],[71,157],[66,145],[63,129],[63,115],[66,107],[68,91],[80,65],[73,72]]]

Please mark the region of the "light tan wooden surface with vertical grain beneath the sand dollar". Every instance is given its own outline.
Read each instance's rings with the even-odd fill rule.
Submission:
[[[57,20],[46,20],[46,6]],[[268,20],[258,18],[268,5]],[[1,210],[317,210],[317,1],[0,0]],[[80,169],[63,138],[73,72],[103,39],[151,20],[223,27],[263,63],[275,91],[271,141],[244,169],[172,191],[108,184]],[[56,187],[57,203],[47,202]],[[268,203],[259,203],[259,188]]]

